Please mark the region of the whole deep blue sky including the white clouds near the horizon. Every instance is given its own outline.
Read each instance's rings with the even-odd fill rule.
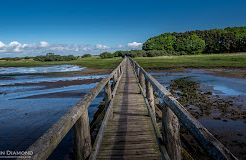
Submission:
[[[246,26],[246,0],[1,0],[0,57],[141,49],[164,32]]]

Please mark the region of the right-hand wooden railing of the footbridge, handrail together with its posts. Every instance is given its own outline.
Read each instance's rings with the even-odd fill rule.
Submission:
[[[163,140],[168,155],[172,160],[181,159],[181,145],[179,138],[179,122],[198,140],[201,146],[213,159],[234,159],[237,158],[221,144],[205,127],[202,126],[156,79],[148,74],[137,62],[131,59],[132,65],[139,78],[141,87],[146,91],[149,104],[151,104],[155,115],[153,92],[164,103],[163,112]],[[145,83],[144,83],[145,81]]]

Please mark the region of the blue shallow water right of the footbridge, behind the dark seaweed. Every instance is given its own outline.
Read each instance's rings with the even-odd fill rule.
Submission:
[[[189,69],[184,72],[151,72],[151,74],[167,87],[171,80],[189,77],[201,85],[212,87],[214,95],[246,95],[245,79],[216,76],[197,69]]]

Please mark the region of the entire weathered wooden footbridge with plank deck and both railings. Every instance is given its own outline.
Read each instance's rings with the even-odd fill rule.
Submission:
[[[90,123],[88,108],[100,92],[105,92],[103,105]],[[158,114],[162,125],[157,123]],[[73,128],[76,160],[181,160],[180,123],[211,159],[237,159],[165,87],[125,57],[27,151],[33,151],[31,159],[47,159]],[[91,130],[95,126],[98,132],[92,142]]]

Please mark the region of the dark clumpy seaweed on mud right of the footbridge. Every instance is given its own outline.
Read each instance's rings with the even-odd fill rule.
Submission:
[[[172,80],[170,91],[195,118],[246,119],[245,111],[234,104],[233,98],[225,99],[212,95],[212,91],[203,91],[191,77]]]

